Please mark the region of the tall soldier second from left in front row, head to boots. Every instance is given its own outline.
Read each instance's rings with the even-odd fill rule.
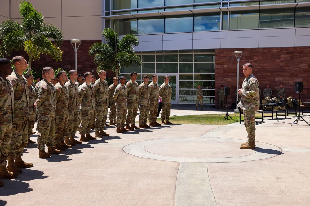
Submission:
[[[13,65],[15,70],[7,77],[14,89],[13,134],[7,170],[21,173],[23,170],[18,168],[33,166],[33,163],[26,163],[21,158],[24,147],[28,143],[29,93],[27,79],[23,76],[23,72],[27,71],[28,64],[24,57],[16,56],[13,57]]]

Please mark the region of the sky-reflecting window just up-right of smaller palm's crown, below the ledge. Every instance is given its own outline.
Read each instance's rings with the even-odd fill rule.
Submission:
[[[138,34],[164,33],[164,18],[139,18]]]

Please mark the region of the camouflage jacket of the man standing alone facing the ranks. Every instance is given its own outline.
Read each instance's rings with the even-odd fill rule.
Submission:
[[[243,110],[259,110],[259,84],[252,73],[244,79],[242,89],[238,106]]]

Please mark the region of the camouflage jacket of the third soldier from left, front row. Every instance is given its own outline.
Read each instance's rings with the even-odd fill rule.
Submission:
[[[55,114],[56,100],[54,86],[44,79],[38,87],[37,110],[39,114]]]

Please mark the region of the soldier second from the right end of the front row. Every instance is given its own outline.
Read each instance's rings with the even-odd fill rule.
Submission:
[[[160,124],[156,122],[157,112],[158,112],[158,101],[159,101],[159,85],[157,84],[158,77],[156,74],[152,75],[152,80],[149,84],[150,89],[150,116],[148,116],[148,121],[150,126],[155,127]]]

